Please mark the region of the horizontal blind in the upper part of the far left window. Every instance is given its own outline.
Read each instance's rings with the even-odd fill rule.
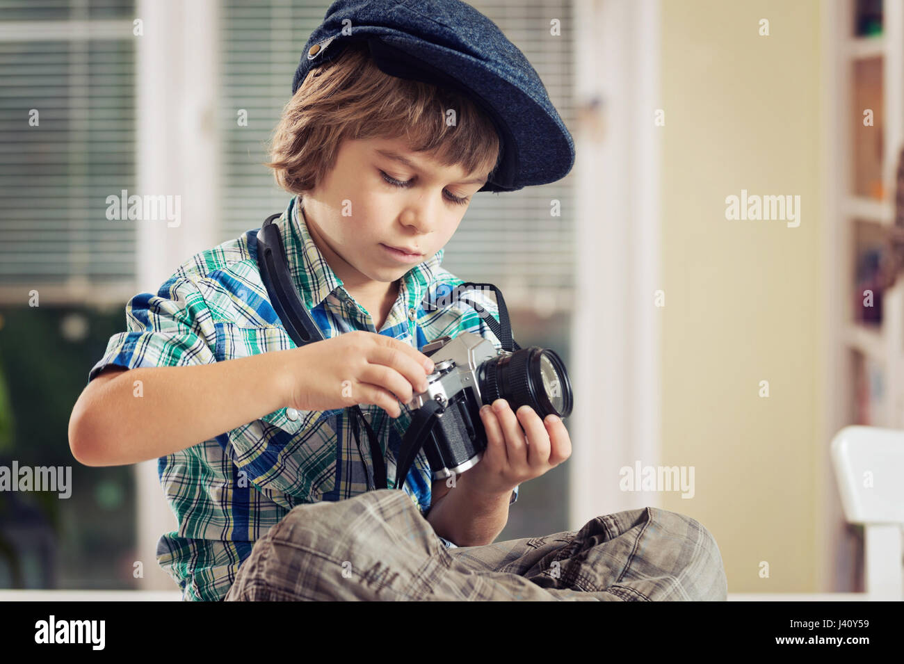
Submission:
[[[134,280],[135,224],[106,217],[137,188],[133,17],[130,0],[0,5],[0,285]]]

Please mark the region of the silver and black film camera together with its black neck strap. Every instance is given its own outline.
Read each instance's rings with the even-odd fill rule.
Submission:
[[[292,282],[285,246],[273,223],[279,216],[280,213],[270,215],[256,234],[249,231],[249,247],[257,255],[260,278],[274,312],[292,341],[301,347],[324,337]],[[460,296],[474,288],[494,292],[498,322],[479,304]],[[442,295],[438,303],[425,298],[424,304],[432,309],[452,302],[450,297],[473,306],[499,339],[503,350],[497,352],[490,341],[472,332],[460,333],[455,339],[441,337],[421,349],[433,358],[436,368],[428,377],[427,391],[415,395],[409,404],[412,416],[396,463],[397,489],[404,488],[404,479],[421,449],[425,450],[434,479],[465,472],[479,462],[486,449],[486,432],[478,411],[497,398],[504,398],[514,410],[527,404],[541,417],[551,413],[565,417],[571,412],[571,384],[565,365],[553,351],[538,347],[522,349],[515,343],[505,300],[496,286],[464,282],[452,289],[451,295]],[[355,423],[360,421],[367,431],[373,463],[372,488],[385,489],[387,469],[376,435],[360,407],[347,410],[359,453],[362,448]],[[363,453],[361,462],[366,473]]]

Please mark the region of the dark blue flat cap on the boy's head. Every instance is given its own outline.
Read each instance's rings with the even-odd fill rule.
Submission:
[[[492,118],[499,165],[481,192],[514,192],[560,180],[574,164],[574,140],[545,86],[484,14],[459,0],[336,0],[305,44],[292,94],[307,73],[353,40],[368,43],[381,71],[457,89]]]

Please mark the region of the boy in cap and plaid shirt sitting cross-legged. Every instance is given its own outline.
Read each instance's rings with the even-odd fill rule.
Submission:
[[[476,44],[450,46],[466,35],[488,68]],[[463,283],[439,264],[467,202],[559,179],[573,162],[535,77],[464,3],[334,3],[268,164],[296,194],[275,223],[325,341],[293,348],[261,283],[256,229],[127,305],[130,332],[110,339],[73,408],[71,448],[92,465],[159,458],[179,529],[157,558],[184,599],[725,599],[711,535],[664,510],[491,544],[520,483],[570,456],[561,421],[530,407],[481,411],[485,455],[454,487],[430,482],[423,452],[403,491],[391,483],[404,404],[432,370],[415,349],[460,332],[501,348],[472,307],[425,306]],[[467,296],[497,317],[492,297]],[[387,489],[374,489],[353,404],[370,416]]]

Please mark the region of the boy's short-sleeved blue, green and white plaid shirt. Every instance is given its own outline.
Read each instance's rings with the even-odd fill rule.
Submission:
[[[304,217],[298,215],[297,198],[274,223],[297,291],[325,339],[353,330],[377,332],[370,315],[345,291],[315,246]],[[128,369],[209,364],[295,348],[260,278],[257,231],[248,230],[196,254],[157,295],[132,297],[126,305],[128,332],[110,337],[104,356],[89,371],[89,382],[110,364]],[[449,297],[464,280],[439,267],[442,256],[439,249],[401,278],[398,298],[379,333],[420,349],[444,334],[475,332],[499,350],[499,340],[480,315]],[[493,295],[479,289],[466,293],[499,319]],[[393,419],[381,407],[361,408],[380,442],[393,488],[396,454],[410,425],[410,410],[403,405],[402,415]],[[160,538],[157,562],[182,588],[184,600],[221,600],[254,542],[295,506],[344,500],[368,491],[361,457],[372,478],[370,445],[362,428],[359,452],[347,419],[342,408],[284,407],[160,457],[160,483],[179,528]],[[427,457],[421,451],[402,490],[425,517],[430,482]],[[517,497],[516,487],[511,502]]]

